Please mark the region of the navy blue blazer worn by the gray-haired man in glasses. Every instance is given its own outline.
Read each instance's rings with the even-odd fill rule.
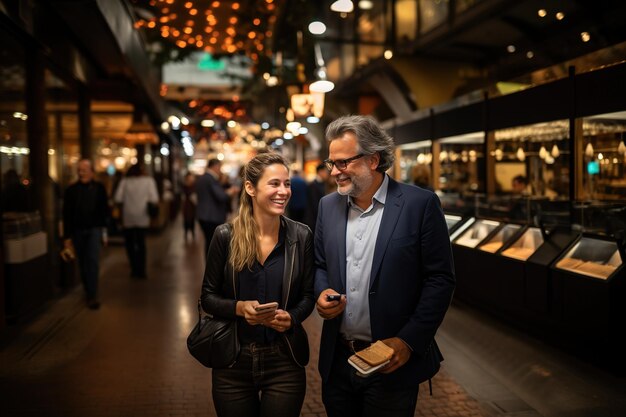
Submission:
[[[320,201],[315,230],[316,297],[326,288],[346,294],[347,215],[347,196],[335,192]],[[389,178],[370,279],[372,338],[399,337],[413,353],[404,366],[383,374],[385,383],[424,380],[420,374],[424,362],[433,360],[427,353],[454,287],[452,249],[439,198]],[[341,316],[324,321],[319,358],[324,381],[330,374],[340,323]],[[437,349],[437,369],[440,359]]]

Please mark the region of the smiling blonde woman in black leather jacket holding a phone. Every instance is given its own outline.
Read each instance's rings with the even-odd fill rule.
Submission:
[[[220,417],[297,417],[304,401],[309,347],[302,322],[311,313],[313,241],[304,224],[284,217],[289,168],[275,153],[246,164],[239,213],[209,246],[202,307],[237,320],[235,363],[213,369]],[[279,307],[257,311],[260,304]]]

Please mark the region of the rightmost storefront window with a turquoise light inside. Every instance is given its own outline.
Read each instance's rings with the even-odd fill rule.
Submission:
[[[626,200],[626,112],[583,119],[582,199]]]

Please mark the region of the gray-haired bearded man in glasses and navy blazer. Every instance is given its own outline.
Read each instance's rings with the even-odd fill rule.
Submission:
[[[412,416],[443,359],[434,336],[455,286],[441,205],[385,174],[394,143],[371,117],[341,117],[326,138],[337,192],[322,198],[315,231],[322,400],[329,417]],[[357,375],[348,357],[378,340],[390,362]]]

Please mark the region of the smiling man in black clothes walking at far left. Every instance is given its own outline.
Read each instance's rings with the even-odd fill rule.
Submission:
[[[90,309],[100,308],[98,275],[100,250],[106,245],[106,219],[109,212],[104,185],[94,181],[91,161],[78,161],[78,181],[65,190],[63,198],[63,237],[65,250],[75,253]]]

